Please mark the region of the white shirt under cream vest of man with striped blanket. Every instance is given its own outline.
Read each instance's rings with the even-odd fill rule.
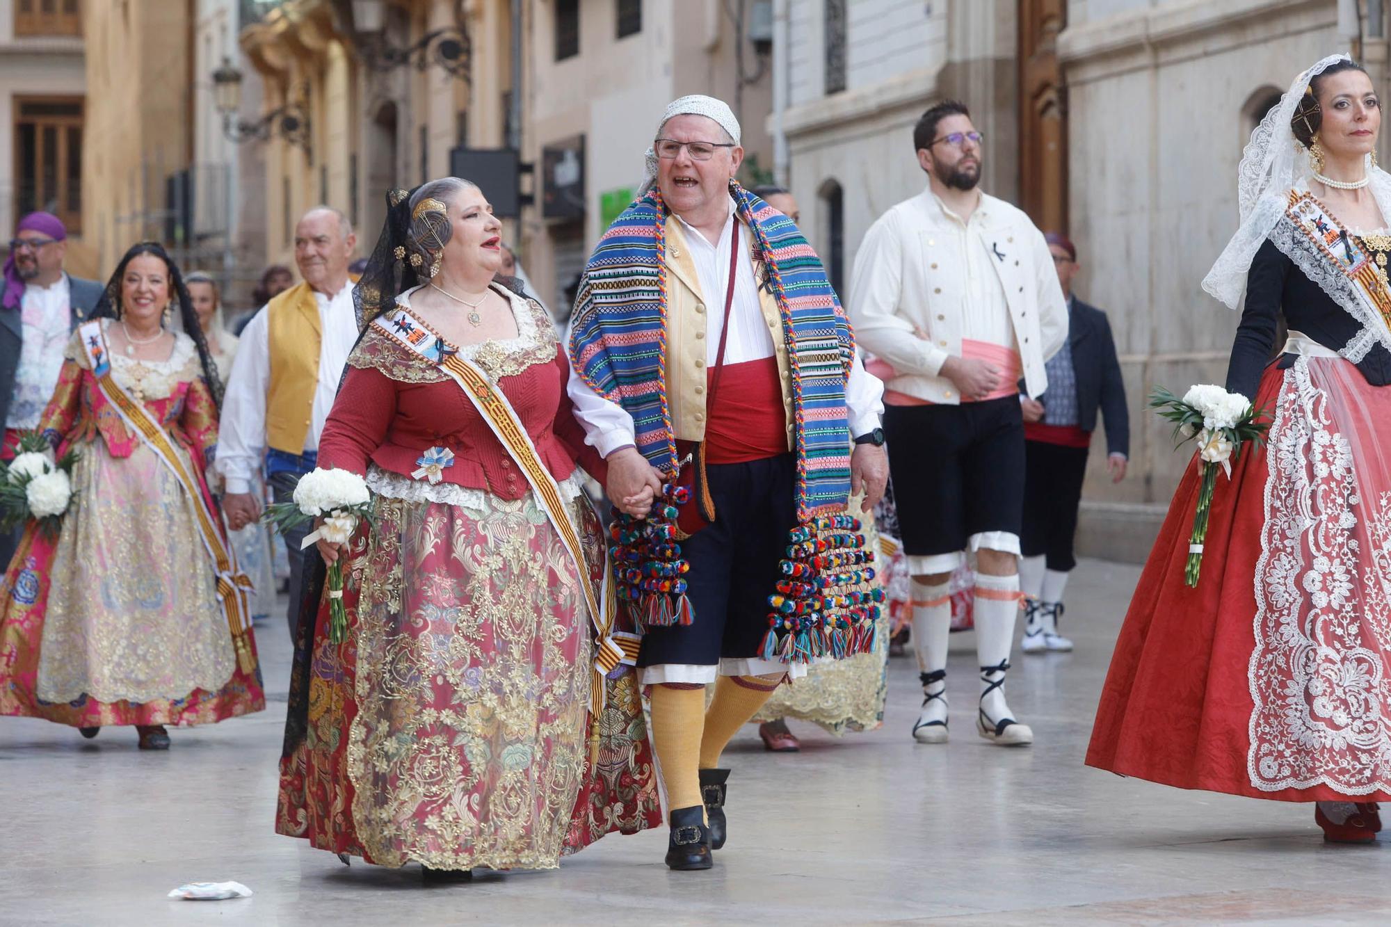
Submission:
[[[690,249],[700,288],[704,294],[718,294],[721,312],[711,312],[705,322],[705,363],[715,365],[719,354],[719,335],[725,330],[723,303],[729,288],[729,249],[734,239],[734,200],[729,200],[729,216],[719,231],[719,239],[711,242],[702,231],[680,216],[676,220],[686,228],[686,246]],[[740,246],[748,248],[744,235],[747,227],[740,227]],[[754,277],[754,260],[740,260],[734,277],[734,301],[729,309],[729,337],[725,344],[725,363],[744,363],[773,356],[773,340],[764,323],[758,302],[758,281]],[[608,457],[622,447],[636,444],[633,416],[623,406],[598,395],[572,369],[568,387],[574,402],[574,418],[580,420],[587,434],[586,441]],[[855,355],[846,381],[846,405],[849,406],[850,433],[868,434],[879,427],[883,413],[883,384],[864,369]]]

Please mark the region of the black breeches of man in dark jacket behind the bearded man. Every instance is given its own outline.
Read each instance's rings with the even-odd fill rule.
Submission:
[[[1020,553],[1047,557],[1047,568],[1068,572],[1077,566],[1072,537],[1077,507],[1086,477],[1085,447],[1043,441],[1024,443],[1024,533]]]

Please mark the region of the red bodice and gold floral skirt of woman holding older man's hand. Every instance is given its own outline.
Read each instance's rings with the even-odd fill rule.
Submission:
[[[609,681],[590,764],[580,583],[602,578],[604,540],[576,461],[597,475],[602,461],[572,416],[549,317],[499,292],[519,335],[459,356],[506,395],[559,483],[590,576],[459,384],[376,327],[319,444],[320,466],[366,476],[376,526],[344,568],[348,642],[328,642],[323,604],[298,657],[277,831],[385,866],[552,869],[661,823],[632,672]],[[437,483],[412,476],[431,448],[452,454]]]

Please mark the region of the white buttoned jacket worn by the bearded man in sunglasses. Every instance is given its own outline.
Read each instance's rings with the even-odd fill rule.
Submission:
[[[1039,395],[1043,362],[1067,338],[1067,302],[1043,234],[983,192],[967,221],[931,187],[881,216],[855,255],[850,296],[855,340],[897,374],[887,388],[928,402],[961,401],[940,370],[963,356],[963,341],[1017,351],[1025,388]]]

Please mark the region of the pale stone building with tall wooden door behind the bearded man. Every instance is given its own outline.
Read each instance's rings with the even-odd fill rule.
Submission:
[[[1242,146],[1295,71],[1324,54],[1352,50],[1385,86],[1380,7],[776,0],[778,175],[843,287],[869,224],[925,184],[914,121],[947,97],[971,107],[986,136],[982,188],[1070,232],[1075,290],[1110,317],[1131,472],[1113,484],[1103,450],[1092,455],[1078,543],[1142,560],[1188,461],[1146,394],[1225,376],[1237,316],[1199,284],[1237,225]]]

